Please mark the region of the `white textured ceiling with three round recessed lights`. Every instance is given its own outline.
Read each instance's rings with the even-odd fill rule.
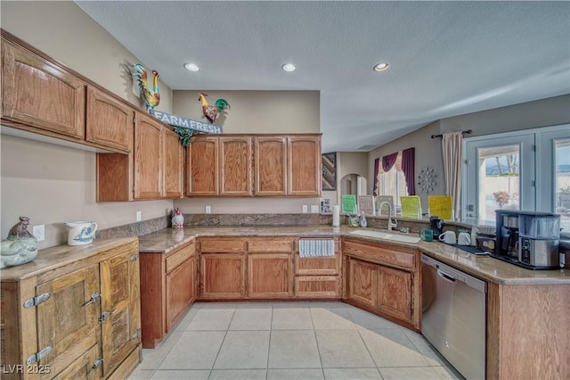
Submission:
[[[566,1],[77,4],[172,89],[321,91],[323,152],[570,93]]]

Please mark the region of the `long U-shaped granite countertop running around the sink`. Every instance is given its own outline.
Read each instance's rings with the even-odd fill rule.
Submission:
[[[140,252],[167,253],[190,243],[199,236],[295,236],[295,237],[350,237],[370,242],[394,244],[418,248],[428,256],[440,260],[468,274],[501,285],[562,285],[570,284],[570,271],[530,270],[517,267],[487,255],[475,255],[452,245],[439,242],[420,241],[417,244],[393,240],[351,235],[357,228],[330,227],[323,225],[309,226],[252,226],[252,227],[184,227],[182,231],[170,228],[139,237]],[[369,228],[377,230],[375,228]],[[385,232],[385,230],[378,230]],[[392,231],[395,233],[395,231]]]

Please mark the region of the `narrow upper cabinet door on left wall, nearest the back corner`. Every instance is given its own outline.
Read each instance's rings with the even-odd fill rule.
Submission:
[[[178,141],[178,134],[164,128],[164,196],[183,196],[184,147]]]

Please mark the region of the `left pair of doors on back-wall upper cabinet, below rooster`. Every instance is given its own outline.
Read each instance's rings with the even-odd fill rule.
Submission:
[[[250,136],[195,136],[187,151],[188,196],[251,196]]]

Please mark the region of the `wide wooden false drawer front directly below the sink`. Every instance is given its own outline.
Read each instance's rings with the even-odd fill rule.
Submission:
[[[343,252],[363,260],[399,268],[414,268],[416,256],[415,250],[411,248],[386,244],[361,244],[352,241],[345,241]]]

